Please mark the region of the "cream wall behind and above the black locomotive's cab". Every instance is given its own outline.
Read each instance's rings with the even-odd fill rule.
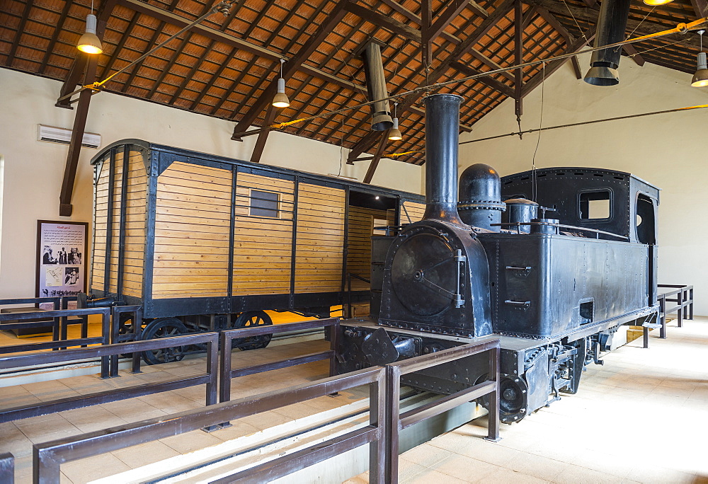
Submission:
[[[590,54],[580,56],[586,69]],[[708,88],[690,87],[690,74],[622,58],[618,86],[578,81],[570,64],[547,79],[543,126],[599,120],[708,103]],[[522,128],[539,126],[542,90],[524,102]],[[662,188],[659,207],[660,284],[693,284],[697,314],[708,314],[708,224],[706,194],[708,109],[542,132],[537,168],[589,166],[627,171]],[[474,125],[461,141],[518,131],[513,100],[507,99]],[[501,175],[530,170],[538,134],[460,146],[461,170],[487,163]]]

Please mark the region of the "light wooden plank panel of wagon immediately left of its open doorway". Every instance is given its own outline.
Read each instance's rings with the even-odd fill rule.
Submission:
[[[335,298],[321,293],[341,291],[345,211],[345,190],[297,185],[296,306],[336,304]]]

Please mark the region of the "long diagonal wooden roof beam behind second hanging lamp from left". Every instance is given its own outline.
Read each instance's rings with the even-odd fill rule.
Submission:
[[[342,18],[346,16],[346,6],[348,6],[348,4],[348,0],[344,0],[334,6],[326,20],[319,26],[319,28],[317,28],[312,36],[310,36],[307,42],[302,45],[297,54],[285,63],[282,69],[283,79],[289,79],[292,77],[292,74],[295,74],[296,71],[302,68],[302,65],[305,61],[307,61],[307,59],[309,59],[312,52],[319,47],[319,45],[331,33],[331,31],[334,30],[338,23],[342,21]],[[278,57],[278,59],[280,59],[280,57]],[[263,113],[265,106],[270,104],[270,101],[273,100],[273,96],[275,96],[277,89],[278,80],[276,78],[273,79],[273,81],[270,81],[268,87],[265,88],[261,96],[255,103],[253,103],[253,105],[251,105],[251,108],[249,108],[249,110],[241,116],[241,120],[239,120],[236,127],[234,127],[234,134],[246,131],[246,129],[253,124],[258,116]],[[232,139],[238,138],[234,138],[232,136]]]

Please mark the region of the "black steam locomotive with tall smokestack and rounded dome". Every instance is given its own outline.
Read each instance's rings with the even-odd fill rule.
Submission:
[[[620,326],[656,317],[658,188],[590,168],[500,179],[477,164],[457,202],[460,100],[426,98],[426,213],[372,238],[373,321],[343,324],[340,371],[501,335],[501,421],[518,422],[576,393]],[[485,371],[472,357],[403,381],[455,393]]]

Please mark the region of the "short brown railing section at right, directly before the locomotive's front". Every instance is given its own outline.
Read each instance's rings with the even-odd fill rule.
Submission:
[[[398,455],[399,455],[399,432],[416,425],[440,413],[447,412],[452,408],[470,402],[476,398],[489,395],[489,434],[485,437],[493,442],[499,439],[499,338],[471,343],[469,345],[457,346],[449,350],[430,353],[400,362],[386,365],[386,393],[387,393],[387,460],[386,477],[387,482],[398,482]],[[476,384],[457,393],[452,393],[426,405],[413,408],[401,414],[399,405],[401,397],[401,375],[421,371],[438,364],[452,362],[455,359],[477,355],[482,352],[489,352],[489,373],[492,379]]]

